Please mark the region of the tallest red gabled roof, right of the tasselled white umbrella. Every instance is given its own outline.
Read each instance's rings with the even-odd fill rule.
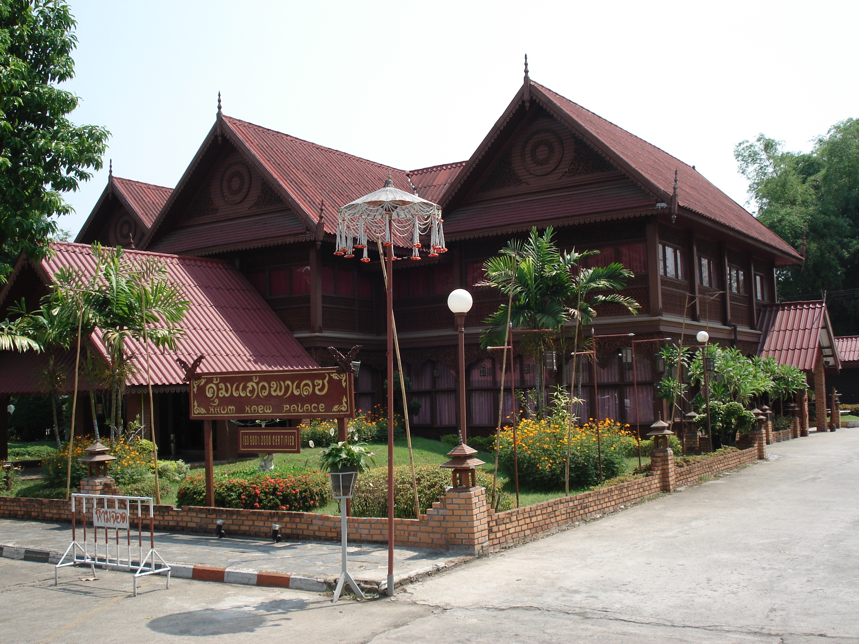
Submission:
[[[612,161],[612,164],[626,173],[644,190],[649,191],[657,200],[671,203],[674,170],[679,170],[678,202],[679,207],[690,211],[705,220],[731,228],[745,235],[749,240],[763,243],[782,257],[782,264],[798,264],[802,258],[786,241],[773,233],[763,223],[752,216],[740,204],[728,197],[697,170],[669,155],[665,150],[636,137],[618,125],[597,116],[584,107],[564,98],[549,88],[527,79],[527,87],[517,94],[483,143],[466,161],[459,176],[454,179],[442,196],[442,206],[451,205],[454,195],[472,173],[478,162],[487,154],[490,146],[501,137],[509,125],[515,125],[523,117],[524,94],[537,101],[546,110],[563,120],[588,143]]]

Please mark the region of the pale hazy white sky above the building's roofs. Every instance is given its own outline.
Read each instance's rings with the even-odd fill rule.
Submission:
[[[467,159],[531,77],[695,164],[746,202],[736,143],[789,149],[856,117],[854,2],[71,0],[78,124],[111,131],[67,198],[72,234],[107,181],[174,186],[224,113],[411,169]]]

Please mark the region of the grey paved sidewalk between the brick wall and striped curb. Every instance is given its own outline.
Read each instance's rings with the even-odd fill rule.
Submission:
[[[87,532],[88,544],[92,547],[92,529],[89,528]],[[103,537],[104,532],[101,530],[102,540]],[[113,540],[113,530],[110,537]],[[82,543],[80,526],[78,540]],[[143,540],[148,542],[149,535],[144,534]],[[132,541],[137,541],[133,532]],[[70,543],[70,524],[0,519],[0,550],[62,554]],[[148,548],[148,544],[144,544],[144,548]],[[252,538],[218,539],[214,535],[156,531],[155,550],[168,563],[181,564],[177,566],[177,573],[181,576],[186,575],[180,570],[187,571],[194,567],[237,568],[254,574],[288,574],[296,578],[319,580],[326,586],[332,586],[336,584],[340,573],[340,544],[330,542],[284,540],[275,544]],[[120,554],[122,551],[120,547]],[[387,545],[350,544],[348,552],[349,571],[356,581],[371,589],[387,586]],[[132,556],[136,554],[137,548],[132,548]],[[7,555],[4,553],[4,556]],[[45,557],[40,554],[40,560],[58,559],[58,556]],[[470,556],[452,556],[447,550],[397,547],[394,549],[395,584],[401,586],[471,559]],[[190,577],[191,573],[187,576]],[[235,575],[227,574],[224,580],[230,581],[233,577]]]

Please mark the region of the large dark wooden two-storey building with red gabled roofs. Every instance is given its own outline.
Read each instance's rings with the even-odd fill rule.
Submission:
[[[396,187],[442,205],[447,235],[448,252],[439,257],[394,264],[395,315],[410,395],[423,404],[413,418],[421,434],[455,430],[456,333],[446,306],[455,288],[474,295],[466,320],[469,432],[495,426],[500,366],[478,337],[501,301],[472,285],[486,258],[532,226],[551,225],[565,249],[599,249],[594,262],[619,261],[635,272],[624,295],[641,313],[604,307],[598,335],[679,337],[685,325],[689,337],[706,328],[716,342],[754,353],[761,307],[776,301],[774,271],[801,260],[695,167],[527,76],[470,159],[411,171],[219,109],[172,191],[111,176],[76,241],[234,265],[321,365],[332,363],[326,347],[362,344],[356,400],[369,410],[384,398],[380,264],[375,254],[369,264],[335,256],[334,234],[338,207],[378,189],[389,173]],[[129,197],[132,186],[137,199]],[[410,252],[398,248],[404,257]],[[634,422],[631,372],[618,357],[628,343],[600,344],[599,404],[600,416]],[[649,425],[661,409],[653,395],[655,347],[638,347],[639,420]],[[537,368],[517,355],[516,386],[534,386]],[[589,374],[582,386],[584,415],[593,416]]]

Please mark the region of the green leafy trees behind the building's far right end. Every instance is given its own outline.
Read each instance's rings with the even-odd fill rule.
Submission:
[[[840,121],[808,153],[761,134],[734,149],[761,222],[801,250],[803,266],[777,270],[779,299],[850,289],[859,270],[859,120]],[[859,299],[830,301],[838,335],[859,333]]]

